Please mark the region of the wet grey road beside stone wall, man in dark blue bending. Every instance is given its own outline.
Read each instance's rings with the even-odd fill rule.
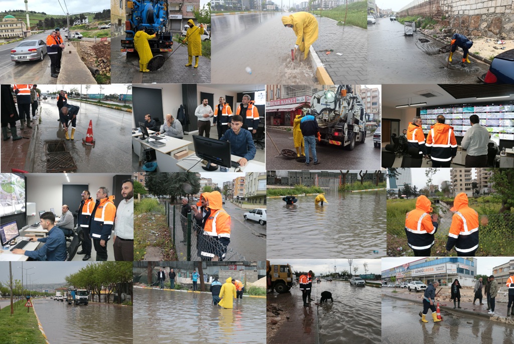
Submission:
[[[368,80],[378,84],[474,84],[489,65],[470,59],[471,64],[461,66],[462,49],[458,48],[453,61],[446,68],[448,53],[438,54],[444,46],[430,37],[415,32],[403,34],[403,25],[389,18],[377,18],[368,25]],[[421,43],[419,39],[428,39]],[[471,48],[473,52],[473,48]]]

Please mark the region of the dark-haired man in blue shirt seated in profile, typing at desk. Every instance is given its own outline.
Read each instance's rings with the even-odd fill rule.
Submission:
[[[44,242],[45,244],[37,251],[25,251],[21,249],[12,250],[12,253],[17,255],[25,255],[35,260],[46,261],[65,261],[66,260],[66,238],[64,233],[54,225],[56,217],[46,212],[41,215],[40,224],[44,230],[48,231],[46,238],[39,238],[37,241]],[[50,228],[50,230],[48,230]],[[34,241],[34,238],[30,238]]]

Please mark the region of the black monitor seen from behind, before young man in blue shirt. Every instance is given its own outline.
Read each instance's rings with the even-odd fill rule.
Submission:
[[[218,169],[218,166],[212,166],[211,164],[217,164],[227,168],[231,167],[230,142],[193,135],[193,144],[196,156],[208,162],[207,166],[202,166],[201,168],[206,171],[215,171]]]

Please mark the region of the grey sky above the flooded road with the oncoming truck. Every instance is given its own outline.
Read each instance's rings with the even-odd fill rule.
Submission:
[[[86,266],[89,262],[24,262],[23,270],[21,269],[21,262],[12,262],[12,274],[14,279],[22,279],[23,271],[23,283],[25,284],[26,277],[30,275],[29,280],[38,283],[64,283],[64,277],[74,274],[79,271],[82,267]],[[19,266],[19,267],[18,267]],[[34,269],[30,269],[33,267]],[[29,269],[29,270],[25,270]],[[28,278],[28,277],[27,277]],[[0,262],[0,282],[4,283],[9,280],[9,262]]]

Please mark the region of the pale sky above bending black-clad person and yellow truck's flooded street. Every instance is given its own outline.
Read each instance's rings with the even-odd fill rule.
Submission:
[[[347,259],[269,259],[269,262],[271,264],[289,264],[292,266],[293,272],[312,270],[316,276],[326,274],[327,271],[334,273],[334,263],[336,264],[337,272],[343,270],[350,271]],[[364,262],[368,262],[368,274],[380,274],[380,259],[354,259],[352,270],[354,266],[359,266],[357,274],[364,274],[364,267],[362,266]]]

